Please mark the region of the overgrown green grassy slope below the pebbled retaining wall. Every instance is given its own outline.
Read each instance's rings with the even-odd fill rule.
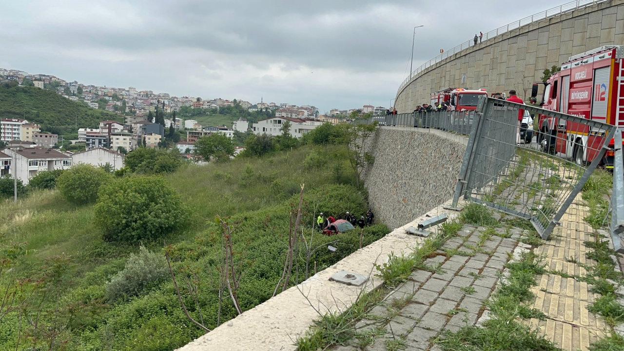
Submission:
[[[289,212],[300,184],[306,189],[306,235],[314,235],[315,246],[338,240],[332,244],[338,247],[336,252],[314,253],[312,262],[318,269],[358,249],[359,229],[333,237],[309,229],[314,212],[338,215],[349,210],[359,215],[366,210],[364,194],[351,184],[353,174],[343,153],[343,146],[306,146],[261,159],[188,165],[167,176],[188,205],[192,225],[163,240],[142,244],[160,255],[163,245],[173,244],[173,269],[195,319],[205,320],[211,329],[217,325],[222,259],[222,237],[213,222],[217,215],[230,217],[235,227],[232,237],[236,264],[243,274],[238,294],[243,310],[269,299],[280,279]],[[328,172],[325,165],[305,162],[315,157],[342,164],[344,172]],[[170,279],[142,290],[137,297],[107,299],[110,278],[124,268],[130,254],[139,251],[139,244],[104,241],[93,216],[92,205],[69,204],[56,190],[34,192],[17,204],[0,202],[0,259],[10,257],[17,262],[14,270],[0,274],[0,289],[9,277],[42,279],[49,272],[57,273],[45,288],[54,302],[38,307],[36,299],[24,305],[31,317],[36,311],[46,311],[39,325],[47,333],[31,332],[25,314],[11,312],[2,318],[0,310],[0,350],[49,344],[52,334],[59,345],[54,350],[173,350],[203,334],[183,315]],[[387,232],[383,225],[366,229],[364,244]],[[298,281],[304,279],[303,263],[295,262]],[[188,294],[188,283],[198,287],[195,299]],[[224,299],[220,322],[235,315],[231,300]]]

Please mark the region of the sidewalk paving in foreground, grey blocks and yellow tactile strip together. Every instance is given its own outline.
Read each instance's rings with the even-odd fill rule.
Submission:
[[[587,350],[608,331],[602,317],[587,309],[599,295],[590,291],[591,285],[569,277],[583,277],[587,272],[582,264],[595,264],[585,257],[583,244],[584,240],[593,240],[594,233],[583,221],[587,211],[587,207],[573,203],[551,239],[534,248],[519,242],[521,229],[495,229],[510,234],[504,238],[492,235],[492,229],[464,225],[447,240],[443,251],[426,260],[427,265],[441,270],[414,271],[406,283],[369,312],[368,319],[358,322],[358,331],[381,328],[383,335],[376,334],[374,342],[364,349],[341,346],[333,350],[441,350],[431,340],[442,331],[456,331],[487,319],[485,302],[504,264],[525,250],[544,255],[548,273],[537,277],[539,285],[532,288],[532,307],[547,318],[524,322],[563,350]]]

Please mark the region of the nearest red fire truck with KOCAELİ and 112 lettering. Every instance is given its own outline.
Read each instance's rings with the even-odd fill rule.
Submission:
[[[561,71],[545,84],[542,107],[593,121],[624,126],[624,46],[603,46],[570,57]],[[537,89],[534,89],[536,91]],[[592,162],[603,134],[585,124],[541,115],[537,142],[548,152],[558,152],[577,164]],[[613,146],[613,141],[611,141]],[[613,167],[613,151],[601,164]]]

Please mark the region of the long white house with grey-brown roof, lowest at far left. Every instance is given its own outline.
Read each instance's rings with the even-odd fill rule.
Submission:
[[[72,158],[54,149],[43,147],[31,147],[29,149],[6,149],[8,156],[15,157],[13,172],[17,173],[17,179],[28,184],[29,180],[41,171],[54,171],[55,169],[69,169],[72,166]]]

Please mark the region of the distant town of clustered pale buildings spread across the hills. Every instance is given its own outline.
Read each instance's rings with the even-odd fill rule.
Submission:
[[[319,114],[319,109],[312,105],[296,106],[285,102],[264,102],[263,99],[252,104],[238,99],[177,97],[166,92],[138,91],[134,87],[85,85],[47,74],[2,68],[0,84],[47,89],[71,101],[119,116],[117,121],[100,121],[97,127],[77,124],[77,138],[69,141],[64,141],[58,134],[42,131],[40,124],[27,119],[0,119],[0,175],[14,175],[24,184],[28,184],[29,179],[40,171],[68,169],[78,163],[110,165],[112,169],[119,170],[124,167],[125,154],[139,147],[177,149],[183,157],[202,162],[202,157],[194,153],[195,143],[211,134],[223,134],[229,138],[235,137],[236,133],[280,136],[283,134],[282,126],[288,125],[290,136],[300,138],[323,123],[337,124],[353,112],[385,113],[384,107],[364,105],[359,109],[331,109],[326,114]],[[231,127],[205,125],[195,119],[176,117],[182,109],[218,111],[228,107],[265,112],[267,117],[258,121],[239,118],[232,122]],[[159,113],[161,121],[156,118]],[[177,132],[180,140],[170,145],[165,142],[165,137],[172,132]],[[65,147],[62,142],[65,142]],[[67,149],[67,142],[74,146],[71,150]],[[237,146],[236,154],[242,150],[242,146]],[[12,169],[13,166],[17,167],[17,172]]]

